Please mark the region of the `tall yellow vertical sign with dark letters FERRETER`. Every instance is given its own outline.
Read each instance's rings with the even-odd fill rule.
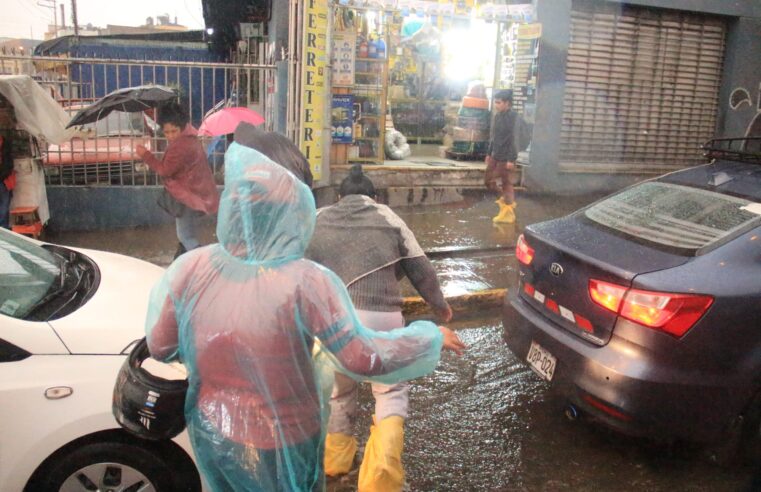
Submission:
[[[322,177],[322,130],[325,127],[325,92],[328,0],[307,0],[304,7],[304,49],[301,72],[301,151],[315,180]]]

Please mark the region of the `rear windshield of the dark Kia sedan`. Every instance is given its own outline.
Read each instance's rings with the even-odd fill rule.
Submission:
[[[593,222],[653,245],[695,254],[761,224],[761,204],[688,186],[648,182],[584,211]]]

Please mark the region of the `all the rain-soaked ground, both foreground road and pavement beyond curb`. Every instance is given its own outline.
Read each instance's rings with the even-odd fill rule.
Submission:
[[[434,266],[446,295],[512,288],[517,280],[511,247],[523,226],[562,216],[597,196],[518,197],[514,225],[494,226],[490,197],[458,204],[410,207],[397,213],[424,250],[505,246],[483,254],[436,256]],[[204,230],[214,241],[213,225]],[[48,237],[71,246],[102,249],[171,262],[173,226],[60,233]],[[405,294],[414,290],[404,284]],[[405,426],[406,490],[411,491],[746,491],[755,470],[718,467],[705,451],[635,439],[584,419],[568,421],[564,402],[513,355],[501,339],[497,312],[451,324],[470,349],[444,354],[437,370],[412,384]],[[367,439],[373,402],[360,393],[356,434],[360,452]],[[357,459],[357,467],[361,454]],[[330,480],[328,490],[356,490],[357,470]]]

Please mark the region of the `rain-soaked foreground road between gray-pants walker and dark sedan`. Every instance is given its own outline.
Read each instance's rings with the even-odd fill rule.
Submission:
[[[412,386],[405,441],[410,490],[749,490],[751,470],[724,470],[695,450],[569,422],[562,401],[505,348],[498,320],[455,327],[470,350],[461,358],[446,354],[433,375]],[[360,394],[361,446],[373,406],[369,389]],[[356,472],[332,490],[354,490],[354,483]]]

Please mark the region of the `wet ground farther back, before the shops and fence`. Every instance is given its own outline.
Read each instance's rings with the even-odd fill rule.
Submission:
[[[517,223],[494,225],[497,206],[491,199],[471,197],[462,203],[395,209],[415,233],[425,251],[464,248],[473,250],[503,246],[502,251],[431,255],[447,296],[482,289],[508,287],[514,280],[513,248],[524,225],[559,217],[597,197],[519,198]],[[214,224],[203,229],[205,243],[215,242]],[[107,232],[50,233],[48,240],[81,248],[113,251],[156,265],[168,266],[177,248],[174,224]],[[405,295],[413,295],[405,283]]]

